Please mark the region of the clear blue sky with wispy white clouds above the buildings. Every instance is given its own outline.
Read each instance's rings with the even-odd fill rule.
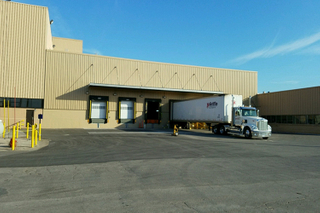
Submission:
[[[320,86],[319,0],[17,0],[84,53],[258,72],[258,93]]]

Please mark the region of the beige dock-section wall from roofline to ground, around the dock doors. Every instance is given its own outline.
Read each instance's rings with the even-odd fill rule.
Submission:
[[[161,99],[162,121],[166,128],[169,100],[192,99],[208,94],[88,87],[89,83],[132,85],[188,90],[256,94],[257,73],[218,68],[185,66],[121,59],[87,54],[47,51],[44,103],[45,128],[96,128],[88,124],[89,95],[109,97],[109,123],[100,128],[137,128],[144,119],[146,98]],[[116,95],[114,95],[116,94]],[[136,98],[135,124],[118,124],[118,98]],[[150,126],[150,125],[149,125]]]

